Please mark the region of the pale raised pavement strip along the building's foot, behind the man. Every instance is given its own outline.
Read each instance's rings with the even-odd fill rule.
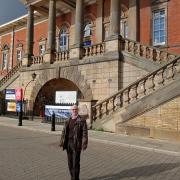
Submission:
[[[51,131],[51,124],[41,123],[39,119],[34,121],[23,120],[23,126],[17,126],[18,120],[0,116],[0,126],[8,126],[19,129],[26,129],[48,134],[61,134],[62,125],[56,125],[56,131]],[[94,142],[101,142],[110,145],[120,145],[132,149],[160,152],[164,154],[180,156],[180,142],[168,140],[157,140],[150,138],[139,138],[127,135],[120,135],[108,132],[89,130],[89,139]]]

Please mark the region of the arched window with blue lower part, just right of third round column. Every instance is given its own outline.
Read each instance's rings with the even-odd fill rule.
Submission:
[[[91,23],[90,22],[86,22],[84,26],[83,45],[84,46],[91,45]]]

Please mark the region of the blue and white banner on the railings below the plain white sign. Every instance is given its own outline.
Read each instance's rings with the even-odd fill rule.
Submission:
[[[57,118],[68,119],[71,116],[71,106],[45,106],[45,116],[51,117],[53,113]]]

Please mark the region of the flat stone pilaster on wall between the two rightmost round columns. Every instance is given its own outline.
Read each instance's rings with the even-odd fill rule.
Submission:
[[[103,41],[103,1],[97,1],[97,19],[96,19],[96,41],[101,43]]]

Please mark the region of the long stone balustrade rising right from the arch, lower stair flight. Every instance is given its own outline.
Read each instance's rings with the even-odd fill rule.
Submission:
[[[92,106],[92,121],[152,93],[171,82],[178,74],[180,74],[180,56]]]

